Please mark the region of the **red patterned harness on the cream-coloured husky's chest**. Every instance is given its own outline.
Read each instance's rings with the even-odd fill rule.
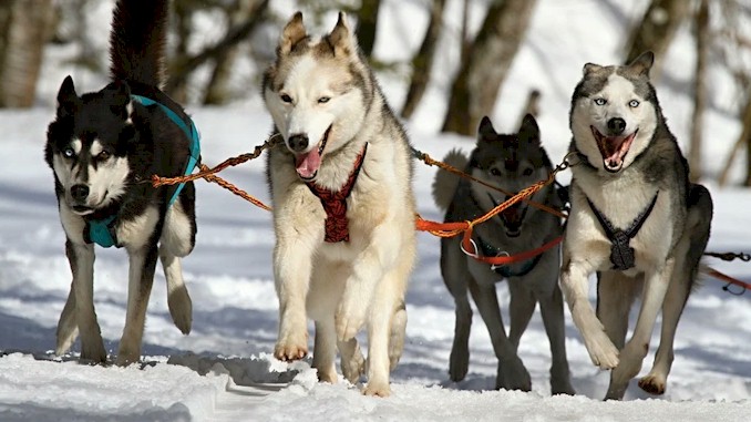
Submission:
[[[325,240],[330,244],[339,241],[349,241],[349,218],[347,218],[347,198],[352,193],[354,182],[360,174],[360,167],[366,158],[368,144],[362,147],[360,155],[354,159],[354,168],[350,173],[347,183],[338,192],[331,192],[325,187],[308,182],[307,185],[313,195],[318,196],[326,210],[326,237]]]

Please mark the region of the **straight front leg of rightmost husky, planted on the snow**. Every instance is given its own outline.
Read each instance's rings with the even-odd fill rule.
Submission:
[[[620,352],[620,363],[610,374],[610,385],[605,400],[620,400],[626,393],[628,382],[639,373],[644,358],[649,351],[649,340],[655,328],[657,313],[662,307],[670,285],[675,258],[668,258],[665,266],[645,275],[645,286],[639,317],[634,334]]]

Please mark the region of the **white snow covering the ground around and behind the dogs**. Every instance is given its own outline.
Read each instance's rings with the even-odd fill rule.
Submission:
[[[450,6],[457,10],[456,3]],[[640,14],[644,3],[541,0],[528,39],[504,85],[502,103],[492,116],[496,127],[511,131],[528,89],[541,89],[543,142],[552,159],[559,162],[569,138],[570,92],[582,65],[587,61],[617,62],[620,33]],[[394,47],[415,48],[422,33],[415,28],[423,18],[414,22],[403,19],[414,3],[387,4],[381,33],[392,38],[383,35],[377,54],[408,56],[411,51]],[[456,16],[455,10],[450,14]],[[328,29],[333,20],[325,23]],[[446,48],[438,69],[453,69],[449,65],[455,63],[454,52]],[[51,52],[51,56],[60,55]],[[666,74],[658,84],[665,113],[682,145],[691,111],[686,88],[691,56],[685,30],[666,58]],[[419,263],[407,298],[408,339],[392,375],[392,397],[366,398],[357,385],[344,382],[317,383],[309,360],[287,364],[270,356],[277,328],[270,214],[202,181],[196,185],[197,246],[184,260],[194,303],[193,332],[182,336],[172,325],[160,274],[146,322],[143,364],[81,366],[78,346],[72,354],[54,358],[54,329],[68,295],[70,270],[52,174],[42,151],[47,124],[54,113],[54,93],[66,71],[64,65],[45,71],[38,107],[0,112],[6,156],[0,177],[0,421],[744,421],[751,414],[751,294],[730,295],[714,279],[707,279],[688,302],[663,397],[651,398],[634,382],[624,402],[603,402],[609,374],[591,366],[568,312],[567,350],[576,397],[549,394],[549,351],[538,313],[519,346],[533,379],[531,393],[493,391],[496,359],[479,317],[472,329],[470,372],[460,383],[449,381],[453,302],[439,271],[439,240],[429,234],[419,234]],[[469,151],[472,140],[438,133],[450,74],[436,78],[430,96],[407,126],[416,148],[441,158],[454,146]],[[84,79],[81,88],[94,90],[97,82]],[[723,74],[714,72],[712,82],[717,90],[727,92]],[[401,106],[403,82],[384,78],[383,85],[392,104]],[[732,99],[732,94],[716,95],[707,119],[706,133],[712,134],[704,151],[710,174],[723,165],[740,131]],[[202,132],[208,165],[249,152],[270,127],[254,90],[233,105],[188,111]],[[430,196],[435,169],[421,164],[416,169],[419,210],[424,218],[440,219]],[[733,175],[740,177],[738,171]],[[268,200],[263,159],[225,171],[222,176]],[[567,177],[564,174],[562,179]],[[707,184],[716,203],[709,249],[749,251],[751,192],[719,189],[711,178]],[[707,263],[751,279],[751,264],[713,258]],[[95,271],[102,334],[107,350],[115,352],[125,318],[124,251],[97,249]],[[504,284],[498,285],[498,292],[505,308],[508,295]],[[504,316],[507,321],[507,313]],[[651,364],[656,343],[657,337],[642,374]]]

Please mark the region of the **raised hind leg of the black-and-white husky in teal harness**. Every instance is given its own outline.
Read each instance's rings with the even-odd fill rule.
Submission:
[[[183,280],[181,259],[168,247],[160,247],[160,259],[167,279],[167,306],[169,315],[181,332],[188,334],[193,322],[193,302]]]

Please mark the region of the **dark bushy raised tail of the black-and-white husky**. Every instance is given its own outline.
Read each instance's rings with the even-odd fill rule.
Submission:
[[[117,0],[110,33],[110,75],[161,88],[169,0]]]

